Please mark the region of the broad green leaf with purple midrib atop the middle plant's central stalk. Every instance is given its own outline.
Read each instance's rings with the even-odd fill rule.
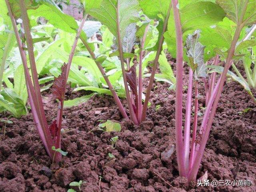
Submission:
[[[123,39],[128,25],[138,21],[139,11],[137,0],[86,0],[86,12],[106,25],[116,38],[118,38],[117,18],[121,39]]]

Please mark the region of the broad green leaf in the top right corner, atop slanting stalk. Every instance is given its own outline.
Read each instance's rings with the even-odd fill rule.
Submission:
[[[255,0],[216,0],[216,3],[225,10],[227,17],[236,24],[256,24]],[[244,17],[242,18],[243,14]]]

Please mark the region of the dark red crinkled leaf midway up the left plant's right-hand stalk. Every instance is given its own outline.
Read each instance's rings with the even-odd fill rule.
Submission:
[[[54,98],[59,101],[64,100],[65,96],[65,86],[66,86],[66,75],[67,75],[67,64],[64,63],[61,67],[61,74],[57,78],[54,77],[54,82],[52,86],[52,93]]]

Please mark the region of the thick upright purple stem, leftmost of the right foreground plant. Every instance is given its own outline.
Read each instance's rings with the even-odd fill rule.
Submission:
[[[183,41],[180,24],[180,13],[177,8],[178,0],[172,0],[174,22],[176,29],[176,105],[175,105],[175,138],[176,154],[180,176],[186,176],[184,166],[183,141],[182,141],[182,78],[183,78]]]

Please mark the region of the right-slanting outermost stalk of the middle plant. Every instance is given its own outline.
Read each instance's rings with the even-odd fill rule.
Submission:
[[[168,8],[168,12],[166,14],[166,18],[164,19],[163,31],[162,31],[161,36],[160,36],[160,40],[159,40],[159,43],[158,43],[158,49],[156,51],[156,58],[154,60],[154,65],[153,65],[153,68],[152,68],[149,84],[148,84],[148,87],[147,87],[147,90],[146,90],[146,97],[145,97],[145,101],[144,101],[144,104],[143,104],[141,121],[144,121],[146,119],[146,114],[147,114],[147,109],[148,109],[148,101],[149,101],[149,97],[150,97],[150,93],[151,93],[151,88],[152,88],[152,85],[153,85],[153,82],[154,82],[154,76],[156,74],[158,59],[159,59],[159,56],[162,52],[162,47],[163,47],[163,43],[164,43],[164,33],[166,32],[166,29],[167,29],[168,19],[170,17],[171,9],[172,9],[172,4],[170,3],[170,6]]]

